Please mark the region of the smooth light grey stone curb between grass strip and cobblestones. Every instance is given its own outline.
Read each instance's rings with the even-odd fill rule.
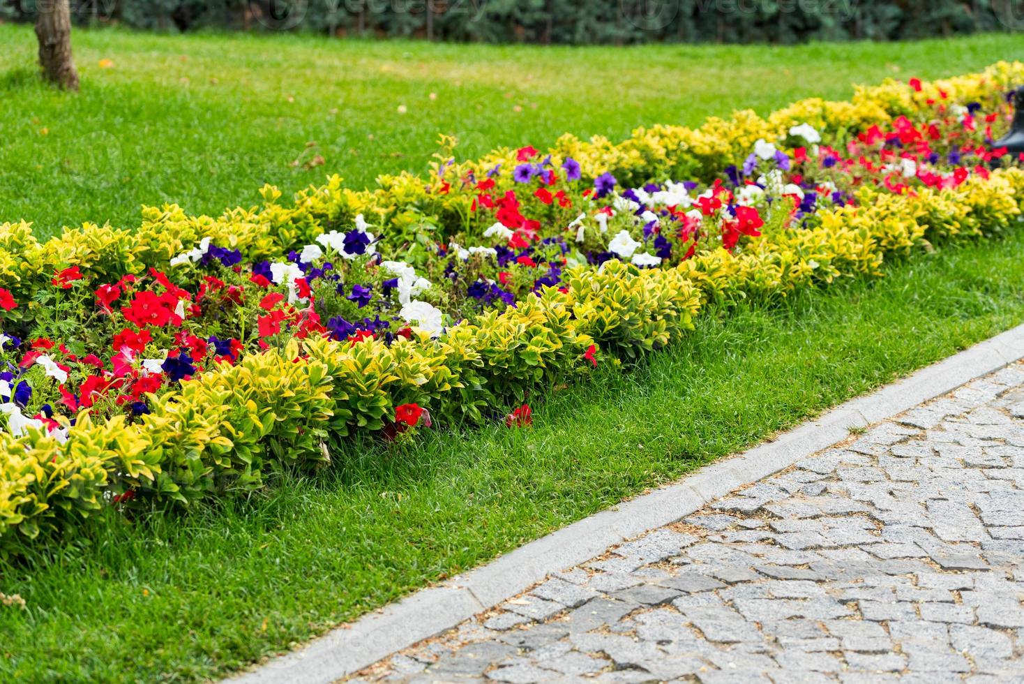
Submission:
[[[228,678],[232,684],[328,684],[495,607],[553,572],[609,546],[675,522],[740,486],[843,441],[853,429],[894,418],[1024,358],[1024,325],[924,368],[765,442],[706,466],[674,484],[606,509],[452,578],[341,625],[300,650]],[[955,562],[954,559],[951,561]]]

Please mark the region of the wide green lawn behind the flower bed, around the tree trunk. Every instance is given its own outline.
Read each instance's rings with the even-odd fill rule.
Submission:
[[[77,96],[39,82],[31,27],[0,26],[0,221],[34,221],[40,236],[87,220],[137,225],[142,204],[219,213],[257,204],[265,182],[291,193],[331,172],[364,187],[424,171],[438,133],[469,158],[563,132],[618,140],[637,126],[767,114],[847,98],[853,83],[1021,56],[1012,35],[544,48],[77,30],[73,42]],[[325,163],[304,168],[317,155]]]

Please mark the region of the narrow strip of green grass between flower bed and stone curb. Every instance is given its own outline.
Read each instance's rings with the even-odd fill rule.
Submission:
[[[1021,250],[1018,231],[703,315],[536,400],[530,428],[354,441],[248,502],[97,522],[0,573],[28,603],[0,607],[0,680],[223,675],[1020,324]]]

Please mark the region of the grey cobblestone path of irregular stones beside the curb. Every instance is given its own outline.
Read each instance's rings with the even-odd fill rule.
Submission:
[[[402,682],[1024,682],[1024,365],[359,673]]]

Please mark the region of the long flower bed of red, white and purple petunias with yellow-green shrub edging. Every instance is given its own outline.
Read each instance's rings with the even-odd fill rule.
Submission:
[[[0,552],[103,506],[315,469],[353,431],[525,425],[530,391],[662,347],[701,307],[1006,230],[1024,171],[988,142],[1019,81],[1000,63],[617,145],[444,152],[427,178],[146,209],[135,231],[3,224]]]

